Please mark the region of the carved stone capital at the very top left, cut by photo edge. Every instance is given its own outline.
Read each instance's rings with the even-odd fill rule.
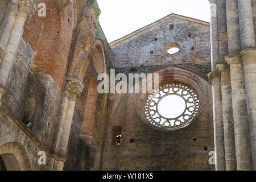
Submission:
[[[31,18],[36,10],[35,0],[20,0],[18,3],[18,16],[23,16],[25,19]]]

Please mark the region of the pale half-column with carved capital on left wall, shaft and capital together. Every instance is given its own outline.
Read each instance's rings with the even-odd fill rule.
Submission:
[[[63,92],[63,97],[60,106],[59,121],[55,130],[53,139],[53,150],[59,153],[61,158],[65,158],[67,154],[69,135],[75,111],[76,98],[80,96],[83,85],[76,78],[68,78]],[[56,160],[53,170],[63,170],[64,161]]]

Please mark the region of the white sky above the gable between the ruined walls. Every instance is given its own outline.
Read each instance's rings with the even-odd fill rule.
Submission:
[[[101,27],[109,43],[171,13],[210,21],[208,0],[97,0],[97,2],[101,9]]]

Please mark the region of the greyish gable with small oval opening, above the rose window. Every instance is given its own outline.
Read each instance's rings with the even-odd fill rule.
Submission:
[[[175,55],[167,52],[170,43],[180,46]],[[116,72],[129,72],[131,67],[136,67],[135,72],[145,73],[165,65],[187,68],[204,78],[210,72],[209,23],[200,20],[171,14],[110,43],[110,46]]]

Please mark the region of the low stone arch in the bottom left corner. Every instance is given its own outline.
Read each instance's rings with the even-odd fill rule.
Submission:
[[[0,146],[0,155],[7,170],[31,171],[30,160],[24,146],[18,142],[9,142]]]

